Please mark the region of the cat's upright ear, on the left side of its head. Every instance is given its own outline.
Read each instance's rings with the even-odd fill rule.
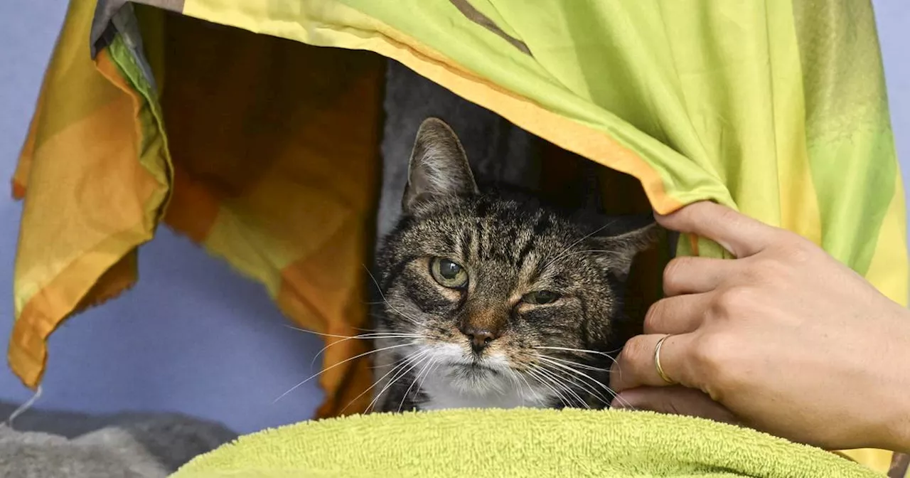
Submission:
[[[477,193],[468,156],[455,132],[440,119],[425,119],[410,154],[401,208],[409,211],[420,200]]]

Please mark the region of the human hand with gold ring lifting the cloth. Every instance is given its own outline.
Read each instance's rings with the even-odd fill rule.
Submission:
[[[613,366],[614,406],[741,422],[829,449],[910,450],[907,310],[809,240],[733,209],[696,203],[658,222],[738,259],[671,261],[666,297]],[[682,386],[655,367],[666,334],[662,370]]]

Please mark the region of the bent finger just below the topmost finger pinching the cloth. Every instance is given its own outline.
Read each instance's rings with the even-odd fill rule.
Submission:
[[[742,270],[735,260],[679,257],[663,269],[663,295],[710,292]]]

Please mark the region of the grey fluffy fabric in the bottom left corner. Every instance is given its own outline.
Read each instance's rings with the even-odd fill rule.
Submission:
[[[16,405],[0,402],[0,417]],[[0,476],[164,478],[237,434],[177,413],[29,410],[0,425]]]

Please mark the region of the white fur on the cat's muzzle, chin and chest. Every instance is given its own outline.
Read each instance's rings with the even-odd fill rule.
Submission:
[[[511,371],[501,353],[485,356],[483,367],[471,368],[469,352],[454,343],[424,345],[430,361],[437,363],[421,381],[427,402],[423,410],[452,408],[543,408],[551,402],[539,383]]]

